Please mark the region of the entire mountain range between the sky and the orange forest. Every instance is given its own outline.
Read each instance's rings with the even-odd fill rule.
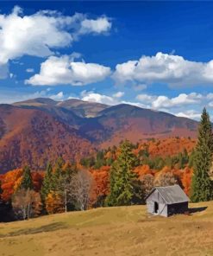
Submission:
[[[0,105],[0,172],[29,164],[43,170],[62,156],[78,160],[125,138],[197,136],[197,121],[166,112],[80,99],[28,99]]]

